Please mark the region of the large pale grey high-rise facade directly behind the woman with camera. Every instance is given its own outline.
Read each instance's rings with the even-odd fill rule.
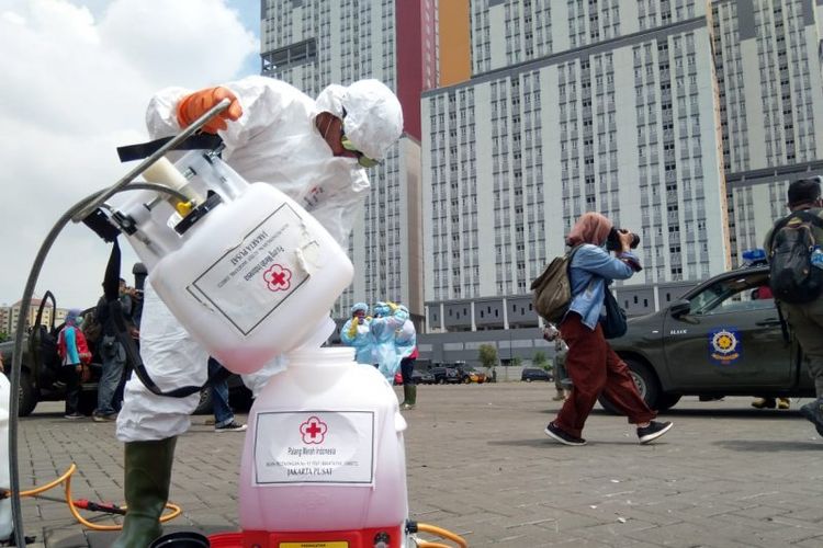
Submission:
[[[641,236],[634,283],[730,266],[710,28],[685,3],[649,28],[638,2],[473,3],[491,71],[424,94],[427,301],[528,294],[588,210]]]

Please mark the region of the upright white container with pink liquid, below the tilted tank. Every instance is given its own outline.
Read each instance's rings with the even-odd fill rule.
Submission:
[[[290,354],[249,413],[239,501],[245,532],[399,527],[406,457],[394,390],[353,349]]]

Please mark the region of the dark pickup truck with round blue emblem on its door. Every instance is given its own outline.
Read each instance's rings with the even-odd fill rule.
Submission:
[[[610,341],[649,407],[681,396],[814,397],[800,347],[782,324],[768,266],[740,267],[699,284],[659,312],[631,318]],[[615,407],[600,398],[609,411]]]

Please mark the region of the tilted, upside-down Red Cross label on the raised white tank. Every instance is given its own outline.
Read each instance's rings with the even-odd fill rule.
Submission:
[[[316,253],[300,215],[279,207],[187,289],[248,335],[309,277],[300,253]]]

